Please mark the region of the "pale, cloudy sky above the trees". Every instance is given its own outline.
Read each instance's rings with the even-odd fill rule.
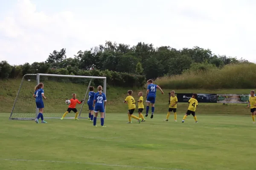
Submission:
[[[67,57],[106,40],[209,48],[256,62],[253,0],[0,0],[0,60]]]

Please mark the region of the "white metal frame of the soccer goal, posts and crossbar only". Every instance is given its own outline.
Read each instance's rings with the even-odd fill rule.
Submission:
[[[14,101],[14,104],[13,104],[12,111],[11,111],[11,114],[10,114],[9,119],[18,119],[18,120],[33,120],[33,119],[35,119],[35,118],[12,118],[12,114],[13,114],[13,111],[14,111],[14,108],[15,108],[15,104],[16,104],[17,98],[18,98],[18,96],[19,96],[19,94],[20,94],[20,89],[21,89],[21,87],[22,87],[22,84],[23,84],[23,82],[24,82],[25,77],[27,77],[27,76],[36,76],[36,82],[37,82],[37,84],[40,83],[40,77],[41,77],[41,76],[46,76],[46,77],[66,77],[66,78],[84,78],[84,79],[87,78],[87,79],[90,79],[89,85],[88,85],[88,87],[87,87],[86,94],[85,94],[85,96],[84,96],[84,102],[85,102],[85,99],[86,99],[86,96],[87,96],[87,93],[88,93],[88,90],[89,90],[91,81],[92,81],[93,79],[103,79],[103,80],[104,80],[104,82],[103,82],[103,91],[104,91],[104,93],[106,94],[106,88],[107,88],[107,78],[106,78],[106,77],[75,76],[75,75],[73,76],[73,75],[40,74],[40,73],[39,73],[39,74],[25,74],[25,75],[22,77],[22,80],[21,80],[21,82],[20,82],[20,86],[19,86],[19,89],[18,89],[18,91],[17,91],[17,95],[16,95],[16,97],[15,97],[15,101]],[[81,105],[81,109],[80,109],[80,112],[79,112],[79,116],[78,116],[78,117],[80,117],[80,115],[81,115],[81,111],[82,111],[84,102],[83,102],[82,105]],[[106,109],[105,109],[105,110],[106,110]],[[104,113],[104,119],[105,119],[105,114],[106,114],[106,111],[105,111],[105,113]],[[37,117],[37,115],[38,115],[38,108],[36,108],[35,117]],[[80,118],[82,118],[82,117],[80,117]]]

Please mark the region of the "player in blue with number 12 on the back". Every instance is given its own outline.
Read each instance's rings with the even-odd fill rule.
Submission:
[[[106,106],[106,95],[102,92],[102,86],[98,86],[98,92],[94,95],[94,100],[93,100],[93,107],[94,108],[94,118],[93,118],[93,127],[96,126],[96,121],[97,121],[97,116],[98,112],[100,112],[100,122],[101,122],[101,127],[104,126],[104,112],[105,112],[105,106]]]

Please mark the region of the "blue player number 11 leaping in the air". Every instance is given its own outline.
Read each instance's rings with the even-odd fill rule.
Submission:
[[[147,89],[147,93],[146,93],[146,102],[147,102],[147,108],[146,108],[146,117],[148,116],[148,110],[149,110],[149,105],[151,103],[151,119],[153,118],[154,115],[154,103],[156,100],[156,93],[157,93],[157,88],[162,92],[163,94],[163,90],[158,86],[158,85],[154,85],[153,84],[153,80],[149,79],[147,81],[148,83],[148,89]]]

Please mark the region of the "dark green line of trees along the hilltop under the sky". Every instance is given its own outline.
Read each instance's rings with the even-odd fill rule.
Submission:
[[[2,61],[0,62],[0,77],[2,79],[18,78],[25,74],[37,73],[107,75],[110,76],[108,77],[109,84],[123,85],[123,83],[128,83],[124,79],[127,81],[134,79],[130,81],[134,82],[134,85],[139,85],[140,81],[145,79],[182,74],[198,63],[222,68],[224,65],[249,62],[242,58],[215,55],[210,49],[198,46],[177,50],[169,46],[155,48],[153,44],[144,42],[130,46],[106,41],[105,45],[78,51],[73,58],[67,58],[66,49],[62,48],[60,51],[54,50],[50,53],[45,62],[9,65],[8,62]]]

